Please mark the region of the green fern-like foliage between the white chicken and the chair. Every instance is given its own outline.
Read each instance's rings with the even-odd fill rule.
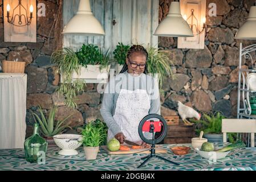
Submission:
[[[210,113],[210,114],[203,113],[200,120],[190,119],[190,121],[197,124],[196,126],[197,135],[200,135],[201,131],[204,131],[204,134],[221,134],[222,119],[226,119],[226,117],[220,112],[216,112],[216,113]],[[230,143],[235,143],[236,134],[228,133],[227,140]]]

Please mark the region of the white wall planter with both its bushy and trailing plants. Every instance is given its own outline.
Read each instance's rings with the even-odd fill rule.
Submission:
[[[51,61],[58,67],[60,87],[56,91],[65,97],[65,104],[76,107],[76,96],[83,92],[86,83],[107,82],[109,52],[105,54],[99,47],[85,45],[78,52],[63,48],[52,53]]]

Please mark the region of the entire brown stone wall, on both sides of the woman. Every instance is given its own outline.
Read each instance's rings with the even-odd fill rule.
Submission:
[[[86,92],[78,98],[78,108],[64,106],[55,89],[59,87],[59,74],[50,63],[53,34],[50,34],[58,9],[56,0],[37,1],[46,4],[46,17],[37,19],[36,43],[3,42],[3,5],[0,0],[0,61],[11,60],[18,53],[27,63],[27,135],[31,134],[34,120],[29,109],[40,105],[47,113],[52,105],[58,106],[56,117],[68,119],[72,127],[101,118],[102,94],[96,92],[96,84],[87,84]],[[168,14],[171,1],[160,0],[159,21]],[[162,115],[177,114],[177,101],[195,107],[198,111],[222,110],[227,116],[235,115],[237,107],[238,47],[235,32],[245,22],[254,0],[208,0],[217,3],[217,17],[207,17],[209,26],[205,49],[177,49],[177,39],[161,37],[159,47],[170,52],[176,79],[166,79],[165,94],[161,96]],[[245,45],[253,42],[245,41]],[[254,55],[255,57],[255,55]],[[243,67],[250,62],[243,60]]]

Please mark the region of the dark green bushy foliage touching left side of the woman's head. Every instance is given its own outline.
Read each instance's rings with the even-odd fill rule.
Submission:
[[[118,43],[115,50],[113,51],[114,59],[118,64],[124,65],[127,57],[127,52],[130,46],[124,45],[123,43]]]

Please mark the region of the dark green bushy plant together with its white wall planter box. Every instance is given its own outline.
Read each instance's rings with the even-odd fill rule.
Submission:
[[[109,65],[109,52],[105,54],[99,47],[88,44],[76,52],[79,62],[79,71],[72,73],[74,79],[85,79],[87,83],[107,83]]]

